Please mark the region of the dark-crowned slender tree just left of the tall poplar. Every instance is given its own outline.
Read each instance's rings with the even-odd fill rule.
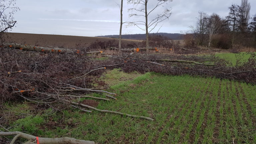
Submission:
[[[241,8],[237,4],[232,4],[229,9],[229,15],[226,17],[231,30],[231,44],[234,47],[235,34],[239,29]]]

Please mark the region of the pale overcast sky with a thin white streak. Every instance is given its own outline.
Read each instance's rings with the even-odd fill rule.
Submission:
[[[149,0],[153,6],[156,0]],[[251,3],[251,15],[256,13],[256,0]],[[17,0],[20,11],[15,13],[18,22],[12,32],[58,34],[76,36],[117,35],[120,27],[121,0]],[[162,22],[159,32],[180,33],[194,25],[198,11],[208,14],[228,15],[232,3],[240,5],[241,0],[173,0],[165,7],[172,9],[169,20]],[[142,17],[129,18],[128,5],[124,0],[123,21],[136,21]],[[163,8],[155,10],[154,14]],[[152,19],[155,15],[151,15]],[[142,20],[142,19],[141,19]],[[155,28],[157,32],[159,29]],[[123,26],[122,34],[139,34],[145,31],[137,27]]]

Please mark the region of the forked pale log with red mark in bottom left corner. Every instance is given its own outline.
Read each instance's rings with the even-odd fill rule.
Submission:
[[[10,144],[14,144],[14,142],[19,138],[27,139],[28,141],[23,144],[94,144],[93,141],[85,141],[79,140],[75,138],[62,137],[62,138],[43,138],[36,137],[33,135],[29,135],[26,133],[22,133],[19,131],[15,132],[0,132],[0,136],[15,136]]]

